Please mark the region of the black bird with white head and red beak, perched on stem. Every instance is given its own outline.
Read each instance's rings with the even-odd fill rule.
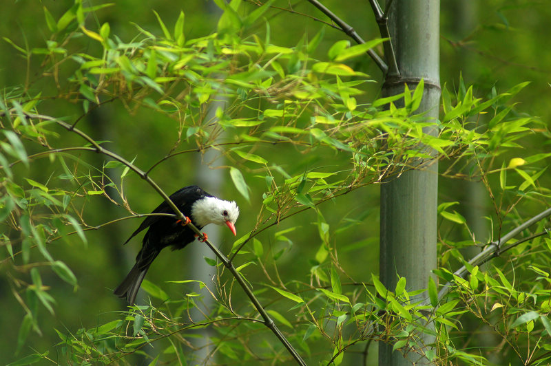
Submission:
[[[226,225],[231,233],[236,235],[235,224],[239,216],[239,207],[235,201],[220,200],[199,186],[186,186],[172,193],[169,198],[185,215],[185,220],[160,215],[147,216],[124,243],[127,244],[130,239],[147,228],[142,248],[136,256],[136,264],[121,285],[114,290],[116,296],[126,298],[130,305],[135,303],[136,294],[145,274],[160,250],[167,246],[172,246],[172,250],[182,249],[194,241],[196,235],[187,226],[189,219],[199,230],[207,224]],[[166,201],[163,201],[152,213],[174,213],[174,211]],[[206,239],[206,235],[203,235],[202,241]]]

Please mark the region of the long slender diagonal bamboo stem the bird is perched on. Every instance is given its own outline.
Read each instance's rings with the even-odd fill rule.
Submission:
[[[154,182],[154,180],[152,180],[149,177],[149,175],[147,175],[147,173],[145,173],[144,171],[139,169],[137,166],[135,166],[134,164],[132,164],[131,162],[129,162],[128,160],[126,160],[122,156],[117,155],[116,153],[114,153],[110,150],[104,149],[93,138],[88,136],[83,131],[81,131],[81,130],[77,129],[76,127],[74,127],[74,125],[70,125],[66,122],[63,122],[63,121],[61,121],[57,118],[53,118],[53,117],[50,117],[50,116],[43,116],[43,115],[39,115],[39,114],[26,114],[26,115],[29,118],[51,120],[53,122],[56,122],[61,127],[67,129],[67,131],[72,131],[72,132],[76,133],[77,135],[81,136],[82,138],[84,138],[87,142],[90,142],[90,144],[92,144],[92,146],[94,147],[93,150],[96,151],[97,153],[107,155],[110,158],[113,158],[114,160],[117,160],[118,162],[122,162],[123,164],[128,166],[129,169],[132,169],[132,171],[134,171],[136,174],[138,174],[140,177],[142,177],[143,180],[145,180],[147,183],[149,183],[149,185],[152,186],[155,189],[155,191],[157,191],[160,194],[161,197],[163,197],[163,199],[167,202],[167,204],[169,204],[169,206],[172,208],[174,213],[176,213],[176,218],[177,219],[184,219],[185,216],[183,215],[183,213],[178,209],[176,204],[174,204],[174,202],[172,202],[170,200],[170,198],[163,191],[163,189],[160,189],[158,184],[156,184],[156,182]],[[90,150],[90,151],[92,151],[92,150]],[[216,248],[216,246],[214,246],[208,239],[206,239],[203,236],[203,234],[198,230],[198,228],[193,223],[190,222],[187,226],[189,226],[189,228],[191,228],[191,230],[194,231],[194,233],[196,233],[197,235],[199,235],[200,237],[205,239],[205,241],[204,241],[205,244],[207,244],[207,246],[209,246],[209,248],[211,248],[211,250],[214,252],[216,257],[218,257],[218,259],[220,259],[220,261],[222,261],[222,263],[224,263],[224,266],[229,270],[229,272],[231,272],[233,277],[236,278],[236,280],[238,281],[239,285],[241,286],[241,288],[243,289],[245,294],[247,294],[247,297],[249,297],[249,299],[253,303],[256,310],[258,310],[258,312],[262,316],[262,319],[264,319],[264,325],[266,325],[273,332],[273,334],[275,334],[275,336],[277,336],[279,338],[279,340],[283,343],[283,345],[289,350],[289,353],[291,353],[291,356],[293,356],[293,358],[295,358],[297,363],[299,365],[304,365],[305,366],[306,363],[304,363],[304,360],[302,360],[302,358],[300,357],[298,352],[294,349],[293,345],[291,345],[291,343],[289,343],[289,341],[287,341],[287,338],[285,338],[285,336],[282,334],[282,332],[278,329],[277,325],[275,325],[275,323],[273,323],[273,320],[270,318],[270,316],[266,312],[266,310],[264,310],[264,308],[262,307],[262,304],[260,304],[260,301],[258,301],[256,296],[253,294],[252,290],[247,285],[247,282],[245,282],[245,279],[243,279],[241,274],[233,266],[233,262],[229,261],[229,259],[227,259],[227,257],[225,257],[225,255],[222,252],[220,252],[220,250],[218,250],[218,248]]]

